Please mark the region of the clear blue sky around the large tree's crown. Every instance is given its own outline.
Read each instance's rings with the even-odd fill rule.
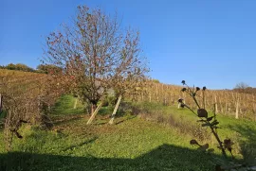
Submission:
[[[1,0],[0,64],[36,67],[44,37],[82,4],[117,10],[123,26],[138,28],[151,77],[161,82],[256,87],[255,0]]]

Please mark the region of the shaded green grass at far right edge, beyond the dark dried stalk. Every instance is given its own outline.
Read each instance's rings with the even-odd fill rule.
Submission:
[[[238,132],[241,137],[239,145],[244,161],[247,164],[256,164],[256,127],[249,127],[247,125],[229,126],[231,130]]]

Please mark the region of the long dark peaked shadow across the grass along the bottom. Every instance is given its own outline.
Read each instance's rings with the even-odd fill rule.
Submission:
[[[113,148],[113,150],[115,150]],[[136,159],[96,158],[12,152],[0,154],[0,170],[214,170],[210,156],[174,145],[160,145]]]

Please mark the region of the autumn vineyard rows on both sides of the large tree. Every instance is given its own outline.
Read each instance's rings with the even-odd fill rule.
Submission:
[[[19,121],[36,123],[42,115],[48,115],[56,99],[65,92],[64,80],[21,71],[0,70],[0,93],[2,95],[3,113],[9,111],[10,118],[17,117],[15,122],[8,123],[6,128],[16,129]],[[196,109],[188,94],[184,94],[181,86],[167,85],[155,81],[147,81],[145,87],[126,95],[126,98],[138,102],[154,102],[165,106],[178,107],[177,99]],[[59,87],[57,89],[57,87]],[[55,91],[54,91],[55,90]],[[210,111],[229,115],[237,119],[256,120],[255,94],[237,93],[230,90],[207,90],[198,95],[199,103]],[[118,98],[118,97],[116,97]],[[6,113],[7,114],[7,113]]]

